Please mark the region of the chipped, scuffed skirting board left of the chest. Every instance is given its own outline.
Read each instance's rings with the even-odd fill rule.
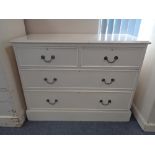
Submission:
[[[21,118],[13,116],[0,116],[0,127],[21,127],[25,121],[25,115]]]

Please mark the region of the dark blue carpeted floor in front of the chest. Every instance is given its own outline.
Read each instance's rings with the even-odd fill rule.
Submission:
[[[36,122],[21,128],[0,127],[0,135],[155,135],[144,132],[132,116],[130,122]]]

